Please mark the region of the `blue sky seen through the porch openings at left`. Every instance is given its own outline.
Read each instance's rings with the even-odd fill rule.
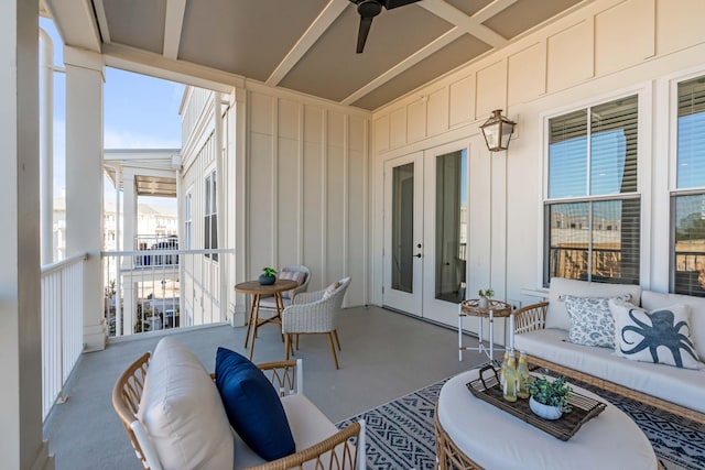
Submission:
[[[63,67],[61,36],[51,20],[40,19],[40,26],[54,42],[54,64]],[[65,186],[65,86],[64,74],[54,75],[54,195]],[[104,141],[106,149],[181,147],[178,107],[184,85],[116,68],[106,68],[104,88]],[[107,200],[115,199],[115,188],[104,178]],[[164,198],[140,201],[171,206]]]

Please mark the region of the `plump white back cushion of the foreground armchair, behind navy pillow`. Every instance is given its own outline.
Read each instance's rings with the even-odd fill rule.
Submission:
[[[230,425],[218,390],[200,361],[173,337],[154,349],[138,418],[165,470],[232,467]]]

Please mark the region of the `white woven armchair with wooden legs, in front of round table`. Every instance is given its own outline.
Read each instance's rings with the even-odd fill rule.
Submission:
[[[338,357],[335,352],[333,339],[340,350],[340,340],[336,328],[336,316],[343,306],[343,297],[350,284],[350,277],[339,281],[339,286],[330,294],[326,295],[326,289],[301,293],[294,297],[292,305],[284,308],[282,313],[282,332],[285,339],[286,359],[293,350],[292,337],[296,337],[299,347],[299,335],[326,334],[328,343],[333,352],[335,368],[339,369]]]

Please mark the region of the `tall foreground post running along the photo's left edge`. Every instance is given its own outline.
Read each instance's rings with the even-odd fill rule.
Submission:
[[[0,2],[0,467],[53,469],[42,441],[37,2]]]

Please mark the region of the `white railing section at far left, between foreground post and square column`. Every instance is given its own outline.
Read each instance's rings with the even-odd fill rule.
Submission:
[[[42,267],[42,419],[84,350],[84,262],[77,254]]]

